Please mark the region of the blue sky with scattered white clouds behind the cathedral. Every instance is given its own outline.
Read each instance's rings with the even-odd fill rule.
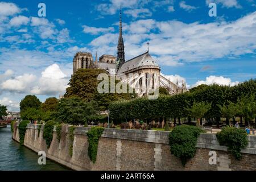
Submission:
[[[208,15],[210,2],[217,17]],[[0,1],[0,104],[15,111],[27,94],[41,101],[64,94],[77,51],[116,55],[120,5],[126,59],[150,42],[172,81],[235,85],[256,77],[255,0]]]

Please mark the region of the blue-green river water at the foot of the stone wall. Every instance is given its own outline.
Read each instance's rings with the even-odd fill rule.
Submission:
[[[0,128],[0,171],[63,171],[69,170],[60,164],[46,161],[46,165],[39,165],[39,156],[11,139],[10,125]]]

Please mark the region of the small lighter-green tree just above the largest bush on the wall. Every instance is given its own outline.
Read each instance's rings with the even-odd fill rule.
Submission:
[[[187,108],[187,111],[191,117],[201,119],[204,117],[205,113],[210,110],[210,103],[206,102],[194,102],[191,108]],[[200,123],[201,125],[202,123]]]

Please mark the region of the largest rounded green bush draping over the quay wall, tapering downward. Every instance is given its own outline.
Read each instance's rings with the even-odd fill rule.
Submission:
[[[196,142],[200,133],[203,132],[199,127],[181,125],[176,126],[169,135],[171,153],[181,159],[183,166],[188,159],[196,154]]]

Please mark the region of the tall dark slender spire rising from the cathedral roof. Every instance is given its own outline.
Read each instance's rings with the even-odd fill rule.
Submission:
[[[119,38],[117,45],[117,71],[121,68],[122,64],[125,63],[125,46],[123,45],[123,32],[122,32],[122,10],[120,6],[120,14],[119,14]]]

